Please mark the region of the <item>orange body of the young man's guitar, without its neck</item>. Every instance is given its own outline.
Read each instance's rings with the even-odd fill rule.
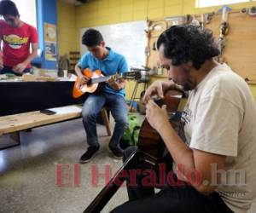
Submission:
[[[95,72],[90,71],[89,68],[84,69],[83,75],[87,78],[101,78],[103,77],[102,72],[100,70],[96,70]],[[88,83],[81,85],[81,78],[78,77],[73,86],[73,97],[79,98],[81,95],[85,93],[94,93],[98,88],[99,83]]]

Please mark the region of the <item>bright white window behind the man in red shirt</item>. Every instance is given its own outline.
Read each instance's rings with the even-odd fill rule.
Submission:
[[[20,13],[20,20],[37,27],[36,0],[12,0]]]

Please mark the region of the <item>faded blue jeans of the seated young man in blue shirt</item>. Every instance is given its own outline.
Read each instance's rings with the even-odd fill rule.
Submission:
[[[128,126],[125,98],[120,95],[104,92],[89,95],[84,101],[82,117],[87,143],[90,147],[99,146],[96,132],[96,116],[101,111],[102,107],[108,107],[115,121],[109,147],[119,147],[119,141]]]

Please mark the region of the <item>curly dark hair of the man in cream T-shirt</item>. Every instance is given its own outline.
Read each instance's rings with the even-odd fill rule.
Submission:
[[[212,31],[201,30],[199,26],[172,26],[161,33],[157,40],[157,49],[164,45],[164,55],[172,60],[173,66],[189,60],[199,70],[205,60],[219,55],[217,43]]]

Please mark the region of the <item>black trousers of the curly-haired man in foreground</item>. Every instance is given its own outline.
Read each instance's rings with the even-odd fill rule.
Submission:
[[[135,147],[125,149],[124,160],[134,151]],[[167,163],[168,164],[168,163]],[[142,166],[143,167],[143,166]],[[137,176],[141,182],[142,176]],[[127,181],[129,183],[129,181]],[[128,185],[128,184],[127,184]],[[232,213],[224,204],[218,193],[202,195],[183,182],[181,186],[165,185],[159,193],[154,193],[154,187],[127,186],[129,201],[116,207],[111,213]]]

